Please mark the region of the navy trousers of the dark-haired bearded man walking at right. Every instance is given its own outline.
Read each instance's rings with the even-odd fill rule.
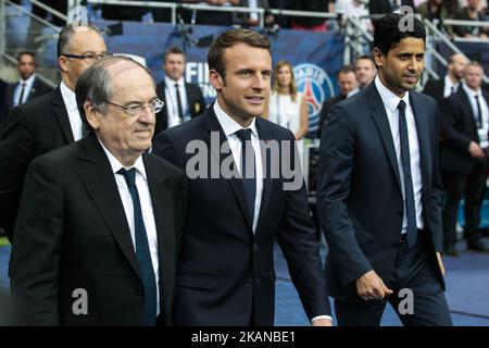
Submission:
[[[392,277],[386,286],[393,290],[387,299],[344,302],[335,300],[339,326],[378,326],[389,302],[405,326],[451,326],[452,319],[444,298],[437,265],[429,257],[428,238],[424,233],[412,249],[401,244]],[[405,313],[405,290],[412,291],[412,313]],[[401,294],[400,294],[401,291]]]

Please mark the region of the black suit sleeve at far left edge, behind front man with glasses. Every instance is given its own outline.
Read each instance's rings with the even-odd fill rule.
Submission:
[[[34,158],[34,138],[22,109],[14,108],[13,121],[0,136],[0,226],[10,241],[27,166]]]

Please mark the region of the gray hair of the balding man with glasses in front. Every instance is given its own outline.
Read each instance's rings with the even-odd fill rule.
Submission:
[[[120,62],[129,62],[136,66],[141,67],[145,72],[148,73],[154,85],[154,79],[151,76],[151,71],[134,59],[124,55],[111,55],[102,58],[93,65],[88,67],[76,83],[76,104],[78,105],[78,111],[82,115],[82,120],[85,126],[90,127],[85,115],[85,102],[89,101],[96,110],[100,111],[103,114],[106,113],[106,101],[112,99],[113,95],[112,76],[108,67]]]

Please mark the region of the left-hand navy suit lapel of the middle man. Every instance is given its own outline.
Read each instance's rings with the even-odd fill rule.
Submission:
[[[221,163],[229,157],[233,156],[230,149],[228,153],[221,153],[221,148],[223,146],[223,142],[227,140],[226,135],[224,134],[223,128],[221,127],[216,115],[213,111],[213,105],[211,104],[208,110],[205,111],[205,140],[208,141],[210,148],[211,148],[211,157],[214,157],[214,160],[218,160],[220,170],[221,170]],[[218,134],[218,147],[217,147],[217,140],[216,135]],[[215,161],[211,159],[211,166],[215,165]],[[233,163],[234,165],[234,163]],[[221,175],[221,174],[220,174]],[[247,208],[247,200],[244,196],[244,188],[242,186],[242,181],[239,177],[236,177],[234,175],[233,178],[226,181],[230,188],[233,189],[233,192],[235,194],[235,198],[238,201],[239,208],[241,209],[241,212],[246,216],[247,223],[252,229],[253,222],[251,221],[250,213]]]

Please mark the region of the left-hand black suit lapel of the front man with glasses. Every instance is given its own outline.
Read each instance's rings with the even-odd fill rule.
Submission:
[[[100,211],[110,232],[127,261],[139,276],[139,269],[130,238],[130,229],[115,184],[109,159],[95,133],[89,133],[78,147],[78,171],[93,204]]]

